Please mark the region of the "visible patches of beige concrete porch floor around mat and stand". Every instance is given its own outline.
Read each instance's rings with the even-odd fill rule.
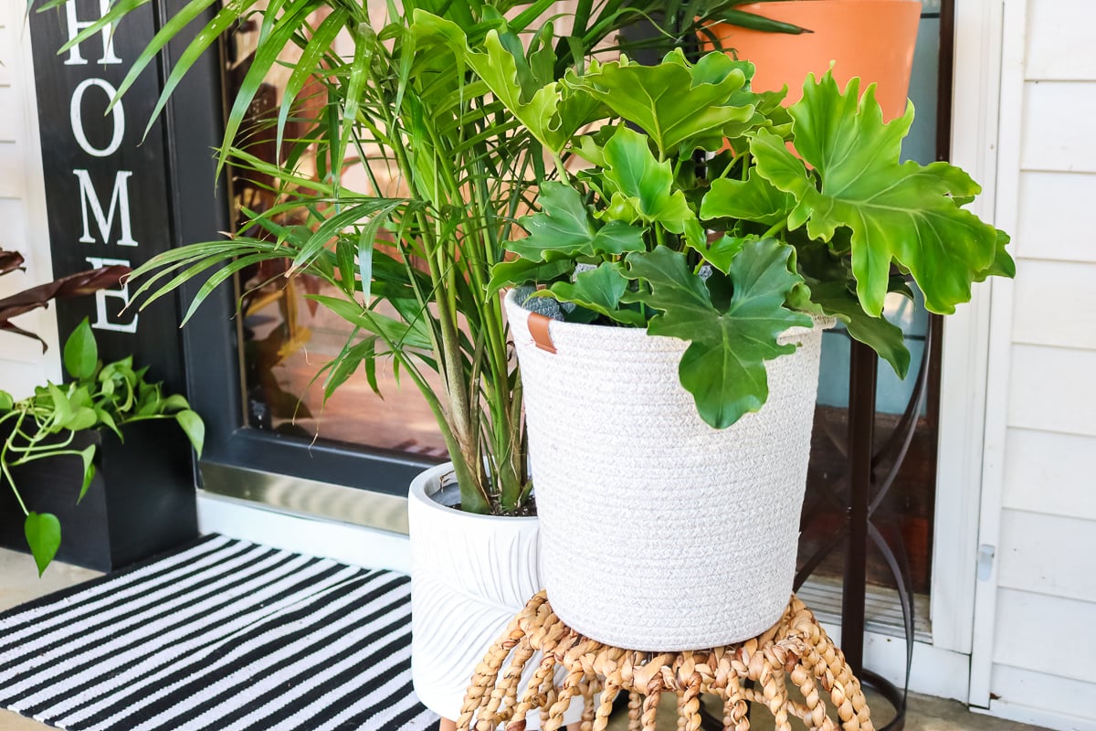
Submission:
[[[0,612],[98,575],[98,572],[89,569],[54,563],[39,580],[34,562],[28,556],[0,549]],[[660,731],[662,729],[672,731],[677,728],[676,721],[672,718],[673,701],[670,698],[666,700],[670,705],[664,713],[660,713]],[[966,706],[955,700],[912,694],[909,704],[905,721],[907,731],[1043,731],[1039,727],[972,713]],[[871,705],[870,698],[869,705]],[[882,710],[884,705],[879,706],[880,710],[877,711],[875,719],[879,726],[880,722],[889,720]],[[773,728],[772,720],[766,722],[765,716],[762,709],[753,713],[752,728],[755,731],[768,731]],[[0,710],[0,731],[42,731],[47,728],[49,727],[43,723]],[[628,720],[625,715],[615,717],[609,724],[613,731],[624,731],[627,728]],[[794,724],[794,728],[800,729],[802,724]]]

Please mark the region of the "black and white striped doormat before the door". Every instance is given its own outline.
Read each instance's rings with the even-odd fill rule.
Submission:
[[[0,707],[73,731],[436,729],[410,580],[224,536],[0,615]]]

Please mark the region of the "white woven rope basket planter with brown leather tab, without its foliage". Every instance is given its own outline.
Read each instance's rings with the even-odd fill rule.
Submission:
[[[770,627],[791,593],[824,327],[781,335],[801,346],[767,363],[767,403],[720,431],[677,379],[687,343],[552,321],[553,354],[513,293],[506,311],[559,617],[654,651]]]

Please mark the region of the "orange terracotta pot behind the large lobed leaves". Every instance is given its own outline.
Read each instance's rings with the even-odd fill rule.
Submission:
[[[860,91],[876,82],[883,118],[905,112],[917,41],[921,3],[915,0],[789,0],[741,5],[741,10],[804,27],[811,33],[763,33],[733,25],[712,27],[724,50],[734,49],[757,67],[758,91],[788,85],[787,104],[802,96],[809,72],[821,77],[833,62],[833,76],[844,88],[860,77]],[[710,44],[703,44],[711,48]]]

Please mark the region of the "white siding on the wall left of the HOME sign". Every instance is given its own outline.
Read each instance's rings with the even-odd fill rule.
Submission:
[[[0,247],[26,260],[26,272],[0,277],[0,296],[48,282],[53,270],[25,13],[23,0],[0,0]],[[37,342],[0,332],[0,389],[24,396],[44,378],[60,379],[60,349],[52,309],[24,315],[16,323],[49,344],[43,354]]]

